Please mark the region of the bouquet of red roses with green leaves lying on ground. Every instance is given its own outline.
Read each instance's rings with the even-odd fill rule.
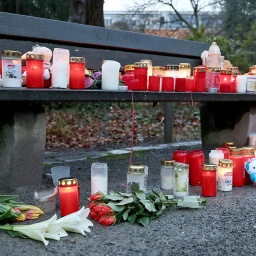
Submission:
[[[163,211],[171,206],[185,208],[200,208],[206,205],[206,200],[198,196],[186,196],[175,199],[172,195],[152,191],[144,193],[132,184],[132,193],[109,194],[98,192],[89,198],[90,217],[104,226],[110,226],[121,221],[138,223],[144,227],[157,218]]]

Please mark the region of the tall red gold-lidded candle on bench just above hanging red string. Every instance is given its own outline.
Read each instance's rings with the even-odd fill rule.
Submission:
[[[135,62],[134,64],[134,79],[139,80],[138,91],[147,90],[147,80],[148,80],[148,66],[144,62]]]

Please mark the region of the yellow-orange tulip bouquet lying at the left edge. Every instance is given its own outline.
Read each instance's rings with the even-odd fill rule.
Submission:
[[[43,211],[22,202],[16,202],[14,195],[0,195],[0,222],[37,219]]]

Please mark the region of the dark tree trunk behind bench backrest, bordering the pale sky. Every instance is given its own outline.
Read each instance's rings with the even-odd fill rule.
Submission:
[[[104,0],[70,0],[71,22],[104,27]]]

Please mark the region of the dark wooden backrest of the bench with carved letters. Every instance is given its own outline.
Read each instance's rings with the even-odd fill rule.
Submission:
[[[188,62],[194,67],[209,49],[205,43],[5,12],[0,12],[0,24],[0,50],[25,53],[35,44],[66,48],[70,56],[85,57],[89,69],[99,69],[103,60],[124,66],[142,59],[152,60],[154,66]]]

